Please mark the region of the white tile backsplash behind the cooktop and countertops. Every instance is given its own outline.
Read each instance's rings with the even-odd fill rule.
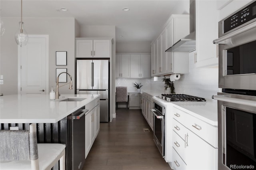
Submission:
[[[218,68],[196,68],[194,64],[194,55],[190,53],[189,73],[182,74],[179,80],[174,81],[175,93],[194,95],[210,99],[212,95],[217,94],[218,89]],[[166,77],[169,77],[167,75]],[[158,81],[154,78],[148,79],[116,79],[116,86],[127,86],[128,91],[136,91],[133,83],[142,83],[141,89],[156,90],[162,93],[164,91],[164,82],[159,76]],[[170,92],[170,89],[166,93]]]

